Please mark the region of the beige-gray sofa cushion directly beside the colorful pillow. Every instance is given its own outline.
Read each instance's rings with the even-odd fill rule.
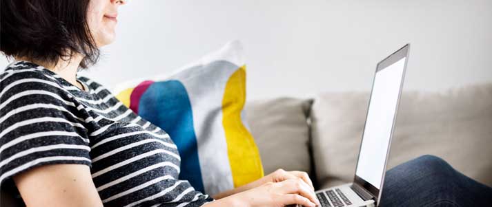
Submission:
[[[246,104],[246,120],[262,157],[265,175],[278,168],[311,173],[306,122],[312,100],[275,98]]]

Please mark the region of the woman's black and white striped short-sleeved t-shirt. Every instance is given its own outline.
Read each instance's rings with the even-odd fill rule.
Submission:
[[[0,74],[0,187],[35,166],[86,164],[104,206],[213,201],[178,179],[179,153],[165,131],[99,83],[77,80],[86,91],[26,61]]]

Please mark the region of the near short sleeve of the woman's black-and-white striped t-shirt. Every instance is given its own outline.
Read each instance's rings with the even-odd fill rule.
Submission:
[[[91,166],[87,129],[70,97],[35,69],[1,74],[0,185],[35,166]]]

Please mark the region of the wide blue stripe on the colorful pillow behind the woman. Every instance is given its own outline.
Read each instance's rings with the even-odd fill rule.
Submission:
[[[140,98],[139,115],[170,135],[181,156],[179,179],[188,180],[195,190],[204,192],[193,111],[184,85],[178,80],[153,83]]]

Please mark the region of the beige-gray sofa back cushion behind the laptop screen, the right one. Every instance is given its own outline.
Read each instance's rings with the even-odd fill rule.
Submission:
[[[311,110],[313,156],[322,186],[351,182],[368,92],[327,93]],[[442,93],[404,91],[388,168],[424,154],[492,186],[492,84]]]

